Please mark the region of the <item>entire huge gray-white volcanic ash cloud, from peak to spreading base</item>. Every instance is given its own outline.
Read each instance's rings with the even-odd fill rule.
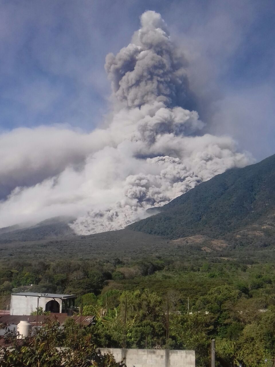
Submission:
[[[145,12],[131,44],[107,55],[105,68],[113,114],[104,130],[40,127],[0,137],[8,141],[0,145],[0,185],[13,189],[0,204],[1,226],[74,215],[79,234],[124,228],[250,163],[231,138],[201,134],[198,113],[187,109],[187,63],[159,14]]]

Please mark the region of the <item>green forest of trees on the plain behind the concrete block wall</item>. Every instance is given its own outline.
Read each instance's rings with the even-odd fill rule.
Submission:
[[[194,349],[197,366],[209,366],[214,338],[220,366],[271,366],[275,269],[268,260],[211,258],[202,251],[146,259],[10,259],[1,264],[1,306],[12,289],[75,293],[83,315],[96,315],[96,325],[82,331],[93,346]]]

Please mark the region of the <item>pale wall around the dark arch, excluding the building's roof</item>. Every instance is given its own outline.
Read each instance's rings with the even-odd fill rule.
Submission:
[[[45,311],[45,306],[48,301],[54,299],[59,303],[60,313],[62,307],[62,300],[59,298],[50,298],[50,297],[39,297],[38,307],[43,307],[43,311]],[[31,312],[35,311],[37,308],[37,297],[33,296],[19,296],[16,294],[11,295],[11,307],[10,307],[10,315],[30,315]]]

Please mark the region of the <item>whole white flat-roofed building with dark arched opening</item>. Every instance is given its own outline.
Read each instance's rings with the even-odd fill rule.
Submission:
[[[37,306],[43,311],[70,314],[76,297],[75,294],[12,293],[10,315],[30,315]]]

